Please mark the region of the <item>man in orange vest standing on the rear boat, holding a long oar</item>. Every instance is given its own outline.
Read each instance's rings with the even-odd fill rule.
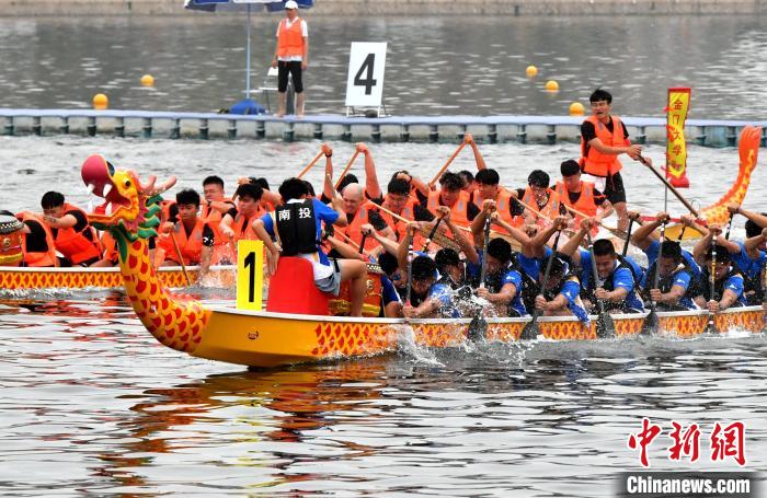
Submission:
[[[588,101],[592,103],[592,115],[581,125],[581,170],[594,177],[594,184],[618,213],[618,229],[626,230],[629,218],[626,188],[620,176],[622,164],[618,155],[627,154],[638,161],[642,148],[631,143],[626,125],[618,116],[610,115],[613,95],[609,92],[596,89]]]

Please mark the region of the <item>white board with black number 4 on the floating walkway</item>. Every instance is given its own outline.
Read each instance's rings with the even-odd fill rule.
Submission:
[[[346,78],[346,105],[378,107],[384,96],[386,42],[352,42]]]

